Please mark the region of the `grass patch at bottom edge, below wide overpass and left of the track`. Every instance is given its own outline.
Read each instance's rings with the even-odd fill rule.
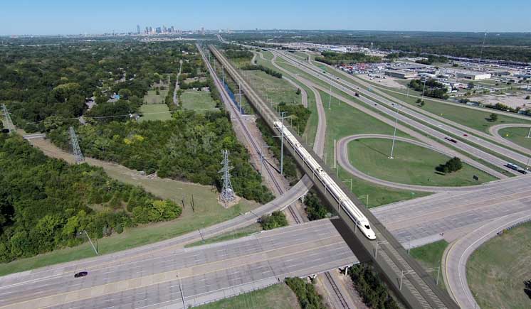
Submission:
[[[295,293],[285,283],[195,307],[198,309],[300,309]]]

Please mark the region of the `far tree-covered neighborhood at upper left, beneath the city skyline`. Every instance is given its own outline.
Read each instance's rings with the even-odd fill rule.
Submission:
[[[42,131],[48,116],[81,116],[90,97],[98,103],[91,116],[129,114],[154,82],[177,71],[179,60],[190,76],[203,65],[191,43],[50,39],[1,45],[0,102],[26,131]],[[114,93],[122,102],[107,104]]]

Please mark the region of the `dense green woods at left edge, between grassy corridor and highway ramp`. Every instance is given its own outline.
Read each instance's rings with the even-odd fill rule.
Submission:
[[[182,212],[101,168],[48,158],[18,135],[0,135],[0,174],[2,262],[80,244],[83,230],[104,237]]]

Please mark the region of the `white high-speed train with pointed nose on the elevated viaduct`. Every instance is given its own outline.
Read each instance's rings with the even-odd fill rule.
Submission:
[[[297,151],[300,158],[303,159],[303,161],[306,163],[306,165],[311,168],[317,178],[320,180],[322,185],[325,186],[326,190],[332,194],[332,196],[335,198],[337,203],[347,212],[350,219],[354,221],[354,224],[356,224],[359,227],[359,230],[368,238],[368,239],[376,239],[376,234],[374,234],[374,231],[371,228],[371,225],[369,224],[369,220],[367,217],[363,215],[362,212],[358,210],[356,205],[354,205],[354,202],[349,199],[349,197],[341,190],[341,188],[335,183],[332,178],[330,178],[330,175],[328,175],[325,170],[322,169],[322,167],[315,161],[315,159],[310,156],[310,153],[307,152],[307,150],[301,145],[297,139],[295,139],[295,136],[291,134],[290,130],[283,126],[283,124],[280,121],[274,122],[275,128],[278,129],[278,131],[284,133],[285,139],[290,143],[290,145]]]

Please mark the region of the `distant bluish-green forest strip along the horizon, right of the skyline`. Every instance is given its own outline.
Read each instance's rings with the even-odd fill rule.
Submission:
[[[224,35],[224,38],[241,42],[362,45],[389,51],[479,58],[484,35],[483,32],[426,31],[246,31]],[[531,33],[488,33],[482,57],[531,63]]]

